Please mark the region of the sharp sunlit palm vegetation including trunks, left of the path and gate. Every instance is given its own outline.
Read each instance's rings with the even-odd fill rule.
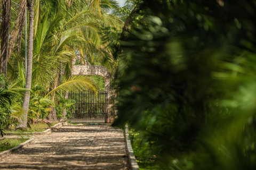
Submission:
[[[114,71],[123,25],[111,14],[117,8],[108,0],[1,1],[1,135],[10,125],[26,129],[45,118],[57,121],[73,103],[65,98],[69,90],[98,89],[97,82],[73,76],[71,69],[87,60]],[[77,61],[77,55],[85,57]]]

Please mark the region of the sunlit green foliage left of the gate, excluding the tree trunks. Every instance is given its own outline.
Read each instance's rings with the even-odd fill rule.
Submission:
[[[15,1],[19,3],[19,1]],[[19,7],[12,5],[11,22],[17,19]],[[122,31],[123,21],[110,11],[118,8],[114,0],[102,1],[35,1],[33,70],[28,110],[29,123],[49,116],[53,106],[60,118],[64,109],[69,112],[73,101],[64,99],[62,92],[96,90],[93,80],[71,75],[76,54],[85,56],[91,64],[115,67],[113,54]],[[21,21],[23,15],[19,15]],[[11,26],[11,30],[13,25]],[[22,31],[22,30],[21,30]],[[22,114],[25,87],[25,30],[19,32],[18,43],[8,58],[7,78],[0,77],[0,131],[17,125]],[[111,33],[111,36],[108,36]],[[22,36],[23,37],[22,37]],[[19,41],[21,40],[21,41]],[[95,79],[102,89],[102,79]],[[19,88],[22,87],[22,88]],[[22,92],[20,92],[22,91]],[[67,116],[70,116],[68,113]],[[44,120],[43,120],[44,121]]]

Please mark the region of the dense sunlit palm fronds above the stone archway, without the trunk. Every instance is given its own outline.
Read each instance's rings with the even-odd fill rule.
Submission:
[[[56,80],[56,73],[61,74],[61,70],[67,73],[66,78],[69,79],[72,62],[76,57],[74,52],[77,49],[88,57],[109,56],[108,61],[113,61],[108,44],[102,41],[101,29],[103,26],[113,25],[114,22],[120,25],[122,21],[108,16],[103,10],[100,16],[85,1],[67,4],[70,6],[66,6],[63,1],[42,1],[43,15],[36,28],[34,47],[35,83],[45,82],[45,86],[49,86],[51,81]]]

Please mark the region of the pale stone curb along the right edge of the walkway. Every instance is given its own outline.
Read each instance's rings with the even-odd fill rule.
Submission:
[[[134,156],[131,141],[130,141],[130,138],[129,138],[128,125],[125,125],[125,142],[126,142],[126,149],[128,151],[128,158],[129,158],[129,163],[130,163],[131,170],[139,170],[139,165],[136,162],[136,158]]]

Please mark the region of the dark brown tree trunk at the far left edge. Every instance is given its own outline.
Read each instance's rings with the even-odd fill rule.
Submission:
[[[0,58],[0,74],[6,76],[7,60],[8,60],[8,41],[11,23],[11,0],[3,1],[3,16],[2,16],[2,42],[1,42],[1,58]]]

